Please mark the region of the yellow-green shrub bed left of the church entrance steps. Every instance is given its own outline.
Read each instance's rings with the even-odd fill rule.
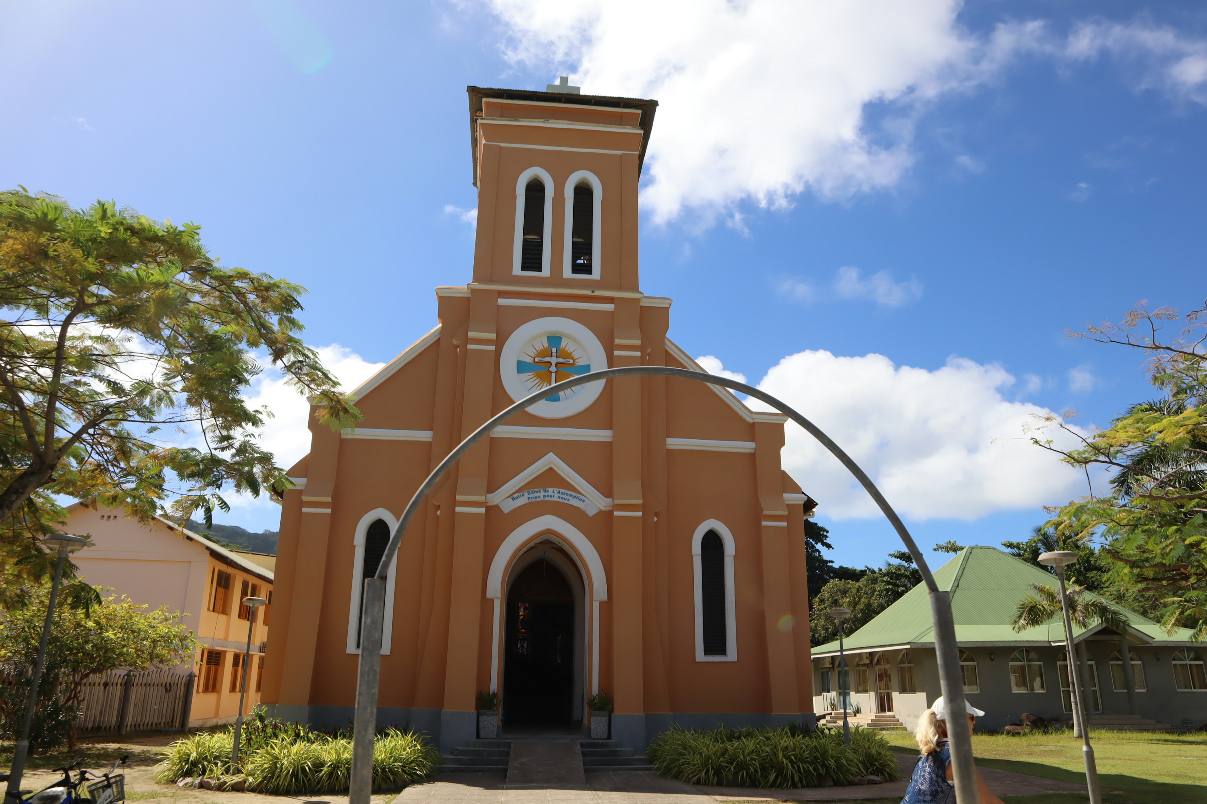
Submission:
[[[156,765],[154,779],[161,782],[211,779],[223,787],[235,785],[278,796],[348,790],[352,769],[352,740],[348,732],[315,732],[257,712],[244,726],[239,765],[231,763],[233,745],[233,727],[176,740]],[[441,755],[427,738],[387,729],[378,734],[373,745],[373,787],[421,781],[439,763]]]

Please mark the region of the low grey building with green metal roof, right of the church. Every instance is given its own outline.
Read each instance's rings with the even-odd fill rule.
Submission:
[[[1068,720],[1071,700],[1065,627],[1059,617],[1015,633],[1010,618],[1032,583],[1055,586],[1050,573],[996,547],[966,547],[934,573],[951,594],[964,692],[985,710],[982,728],[1002,728],[1024,712]],[[1180,628],[1124,611],[1126,634],[1073,627],[1073,644],[1092,692],[1091,720],[1118,728],[1188,728],[1207,723],[1203,647]],[[939,696],[934,634],[926,587],[905,593],[845,640],[851,702],[858,721],[912,728]],[[1124,664],[1130,657],[1131,673]],[[836,641],[812,650],[814,708],[841,709]],[[1130,682],[1130,683],[1129,683]],[[1129,689],[1129,686],[1131,689]]]

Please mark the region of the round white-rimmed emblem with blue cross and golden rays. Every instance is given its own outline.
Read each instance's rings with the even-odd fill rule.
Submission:
[[[503,388],[517,401],[555,382],[607,368],[599,339],[570,318],[537,318],[520,325],[498,357]],[[604,385],[591,382],[554,393],[529,411],[544,418],[573,416],[599,398]]]

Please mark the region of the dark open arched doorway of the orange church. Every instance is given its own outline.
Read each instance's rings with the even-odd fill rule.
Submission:
[[[575,595],[561,570],[542,558],[507,592],[503,723],[571,723],[573,679]]]

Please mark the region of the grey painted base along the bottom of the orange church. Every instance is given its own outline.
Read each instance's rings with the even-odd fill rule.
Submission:
[[[351,724],[351,706],[296,706],[268,704],[269,717],[291,723],[305,723],[314,728],[336,729]],[[612,715],[612,739],[625,749],[643,752],[649,740],[674,726],[687,729],[777,727],[798,723],[806,728],[817,726],[812,712],[800,715],[771,715],[768,712],[649,712],[646,715]],[[426,734],[441,753],[453,753],[478,736],[477,712],[460,712],[441,709],[378,709],[379,729],[410,729]],[[506,728],[506,727],[505,727]]]

